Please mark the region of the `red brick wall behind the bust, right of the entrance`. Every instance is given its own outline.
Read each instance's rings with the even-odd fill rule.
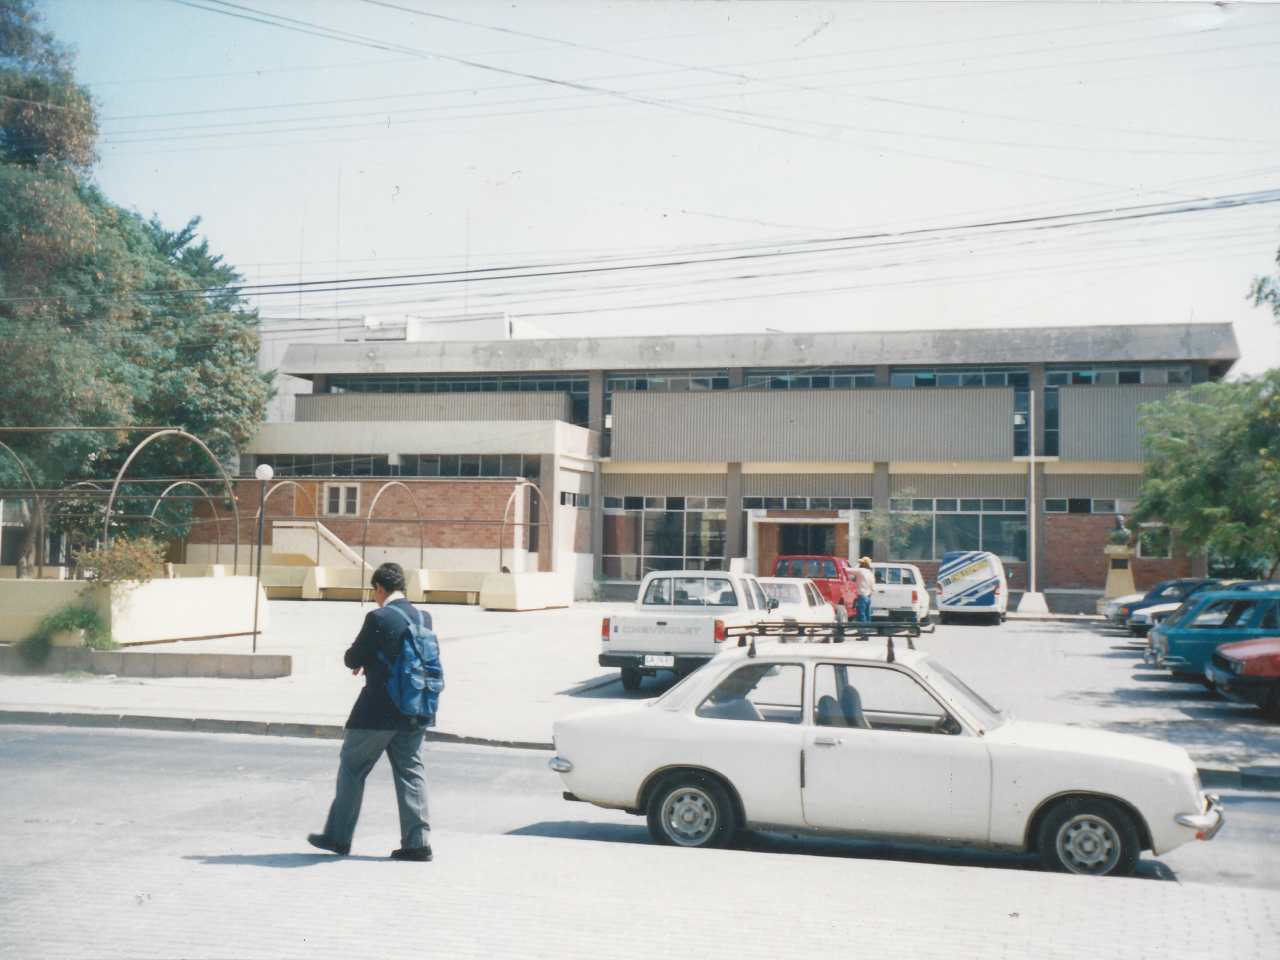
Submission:
[[[1102,590],[1107,585],[1110,557],[1102,553],[1116,518],[1106,513],[1050,513],[1044,517],[1044,558],[1041,589]],[[1133,582],[1149,590],[1161,580],[1190,576],[1190,559],[1174,549],[1169,559],[1134,557]]]

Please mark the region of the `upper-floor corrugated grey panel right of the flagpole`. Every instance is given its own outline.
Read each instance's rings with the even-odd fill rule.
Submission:
[[[1138,407],[1187,387],[1060,387],[1061,458],[1075,462],[1137,462],[1142,456]]]

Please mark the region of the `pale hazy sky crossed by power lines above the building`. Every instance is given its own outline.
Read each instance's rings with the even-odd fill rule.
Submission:
[[[566,334],[1194,319],[1236,323],[1242,369],[1280,362],[1245,301],[1275,269],[1280,204],[804,243],[1280,188],[1271,5],[44,9],[102,104],[106,193],[201,215],[251,282],[557,274],[294,288],[264,316],[507,310]],[[783,248],[801,252],[760,256]],[[751,256],[612,269],[713,251]]]

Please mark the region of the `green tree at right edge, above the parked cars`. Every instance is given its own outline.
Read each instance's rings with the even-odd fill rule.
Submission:
[[[1147,462],[1132,513],[1187,549],[1280,558],[1280,371],[1201,384],[1143,407]]]

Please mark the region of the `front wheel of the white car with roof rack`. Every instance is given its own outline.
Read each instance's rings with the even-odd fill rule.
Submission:
[[[1133,820],[1093,797],[1064,800],[1050,810],[1037,846],[1046,869],[1085,877],[1132,877],[1140,852]]]

